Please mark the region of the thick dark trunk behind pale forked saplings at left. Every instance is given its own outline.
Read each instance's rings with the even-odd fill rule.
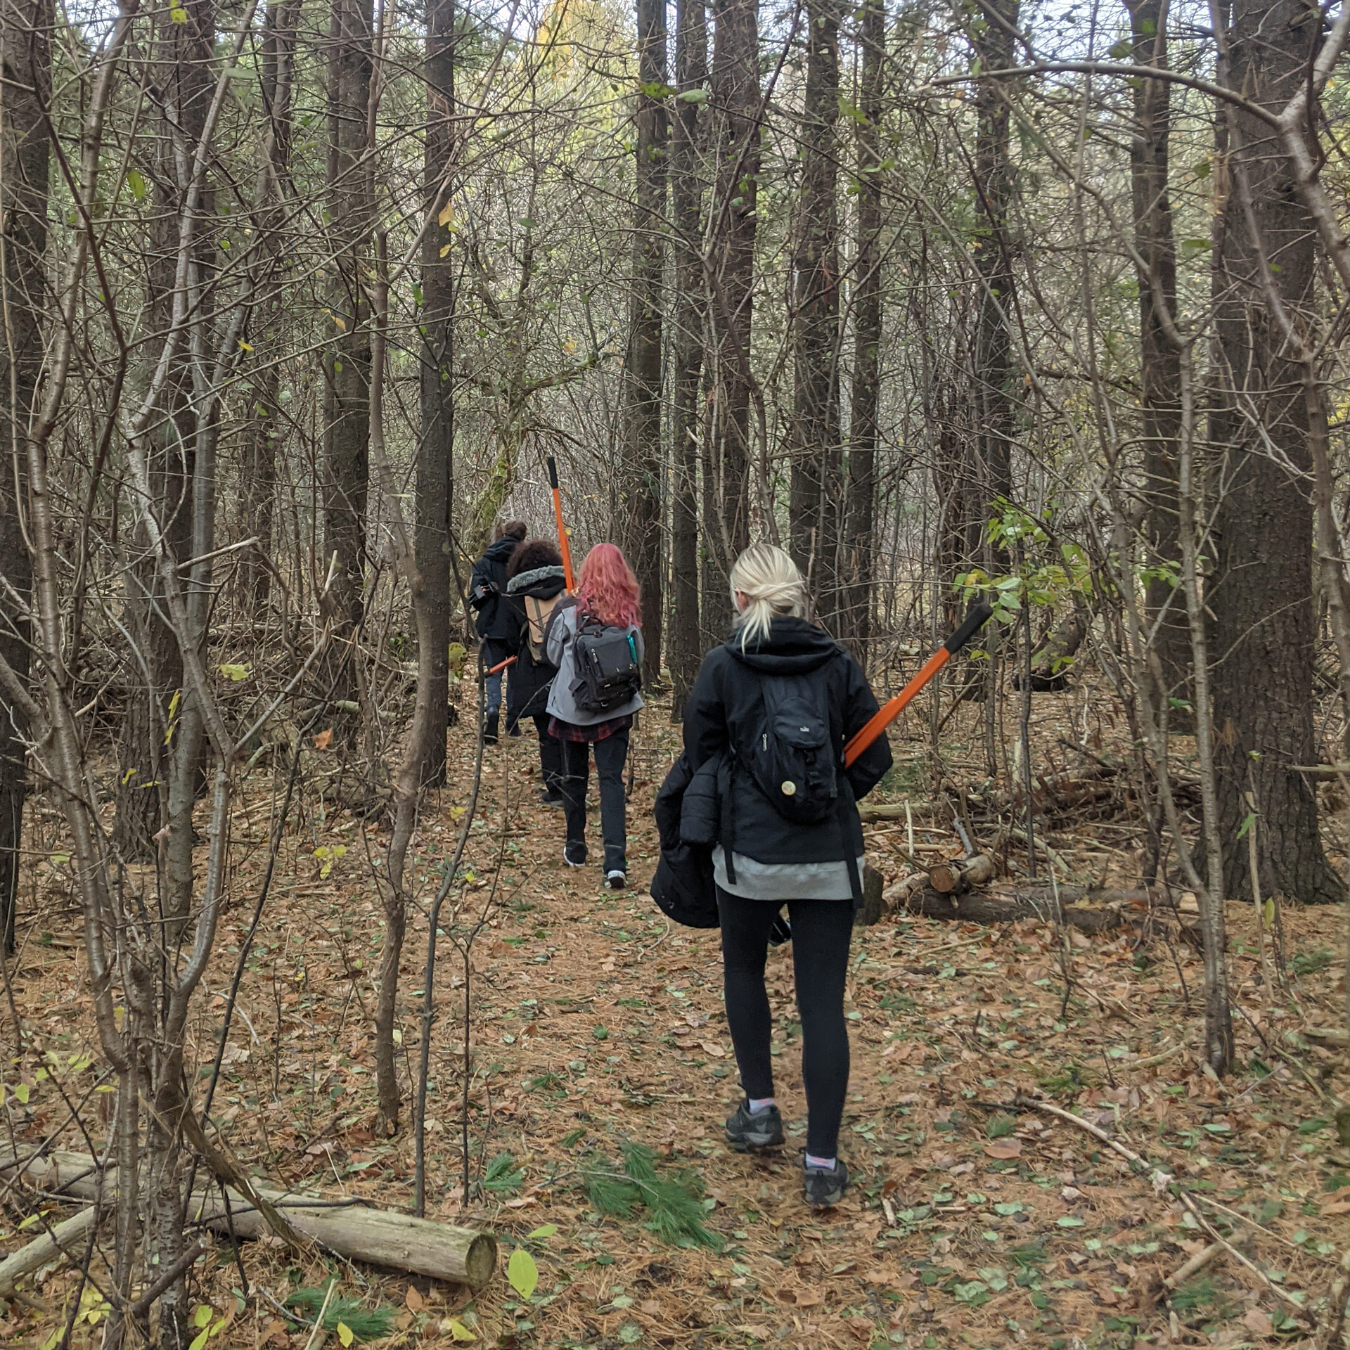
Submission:
[[[215,9],[211,0],[185,0],[185,22],[174,23],[163,12],[155,36],[154,78],[161,92],[155,123],[154,212],[150,220],[147,301],[155,342],[148,347],[150,364],[167,342],[173,321],[174,274],[178,254],[178,221],[192,178],[192,158],[201,139],[211,103],[215,54]],[[213,211],[209,192],[202,194],[201,215]],[[202,235],[205,231],[201,232]],[[194,248],[189,274],[189,306],[193,325],[204,319],[207,286],[205,240]],[[197,418],[193,413],[190,343],[178,338],[151,435],[151,510],[178,559],[190,556],[192,482],[196,473]],[[132,504],[132,518],[139,508]],[[127,670],[128,705],[122,724],[117,817],[113,841],[124,857],[153,857],[153,837],[169,807],[169,764],[165,748],[171,744],[182,711],[182,652],[165,620],[163,585],[148,536],[138,522],[132,539],[132,564],[127,568],[127,626],[136,653]]]

